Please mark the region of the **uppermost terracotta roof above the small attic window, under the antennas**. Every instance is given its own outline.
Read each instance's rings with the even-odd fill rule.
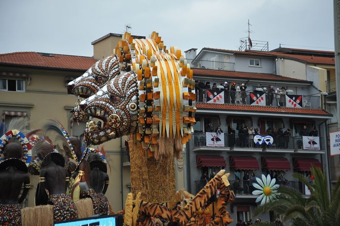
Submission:
[[[214,48],[206,48],[206,47],[203,48],[201,51],[203,51],[203,50],[208,50],[208,51],[211,50],[211,51],[217,51],[217,52],[242,54],[242,55],[254,55],[254,56],[262,56],[262,57],[290,58],[290,59],[296,59],[296,60],[299,60],[299,61],[303,61],[303,62],[309,63],[309,64],[326,64],[326,65],[334,65],[335,64],[334,57],[332,57],[332,56],[331,57],[306,56],[306,55],[296,55],[296,54],[289,54],[289,53],[282,53],[282,52],[267,52],[267,51],[235,51],[235,50],[214,49]],[[322,52],[325,52],[325,51],[322,51]]]

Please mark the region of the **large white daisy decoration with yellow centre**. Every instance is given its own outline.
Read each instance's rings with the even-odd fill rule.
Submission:
[[[265,175],[262,174],[262,180],[256,177],[257,183],[253,183],[254,188],[258,190],[254,190],[253,194],[259,195],[256,198],[256,202],[260,202],[260,205],[263,205],[267,202],[270,202],[275,199],[277,189],[279,185],[275,185],[276,179],[271,179],[271,176],[268,174],[267,178]]]

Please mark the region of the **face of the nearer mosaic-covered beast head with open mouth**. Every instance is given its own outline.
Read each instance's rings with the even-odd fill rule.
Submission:
[[[127,72],[113,78],[96,95],[79,104],[86,113],[85,141],[101,144],[107,140],[136,132],[138,120],[138,90],[135,72]],[[95,123],[93,118],[102,120]]]

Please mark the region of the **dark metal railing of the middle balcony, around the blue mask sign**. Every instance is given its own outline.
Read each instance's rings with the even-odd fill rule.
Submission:
[[[253,138],[254,135],[252,134],[224,133],[224,147],[304,150],[302,136],[272,135],[272,138],[274,140],[272,145],[267,144],[256,145],[254,143]],[[323,150],[322,137],[319,137],[319,142],[320,150]],[[205,133],[194,133],[194,147],[206,147]]]

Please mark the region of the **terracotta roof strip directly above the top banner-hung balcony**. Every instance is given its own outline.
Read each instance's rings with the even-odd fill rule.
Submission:
[[[227,78],[243,78],[243,79],[259,79],[259,80],[272,80],[272,81],[284,81],[284,82],[299,82],[299,83],[312,83],[310,81],[289,78],[274,74],[265,73],[250,73],[250,72],[238,72],[238,71],[228,71],[228,70],[212,70],[212,69],[202,69],[202,68],[192,68],[195,75],[213,75],[221,76]]]

